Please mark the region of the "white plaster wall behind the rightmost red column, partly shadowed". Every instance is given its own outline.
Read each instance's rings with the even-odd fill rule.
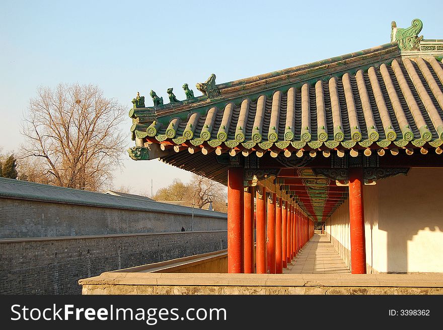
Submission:
[[[443,272],[443,169],[363,188],[367,273]],[[349,204],[326,222],[326,233],[350,266]]]

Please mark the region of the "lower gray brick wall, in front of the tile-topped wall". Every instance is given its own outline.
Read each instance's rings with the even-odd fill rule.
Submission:
[[[82,219],[79,213],[73,216]],[[106,222],[91,220],[91,227],[98,230],[99,223]],[[88,228],[85,221],[75,227]],[[227,246],[227,231],[3,240],[0,294],[81,294],[78,280],[82,278]]]

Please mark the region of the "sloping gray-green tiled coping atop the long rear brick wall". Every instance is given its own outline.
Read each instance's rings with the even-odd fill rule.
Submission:
[[[57,187],[15,179],[0,177],[0,199],[12,198],[49,203],[64,203],[96,207],[144,210],[174,214],[192,214],[192,208],[150,201],[147,197],[125,194],[112,195],[71,188]],[[195,216],[226,218],[226,213],[194,209]]]

